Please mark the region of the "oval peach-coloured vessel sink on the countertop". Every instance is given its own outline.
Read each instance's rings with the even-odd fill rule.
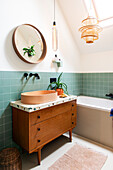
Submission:
[[[55,90],[43,90],[21,93],[21,102],[23,104],[41,104],[57,100]]]

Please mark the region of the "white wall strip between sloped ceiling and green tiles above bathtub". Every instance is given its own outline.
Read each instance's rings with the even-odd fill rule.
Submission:
[[[113,51],[82,55],[82,72],[113,72]]]

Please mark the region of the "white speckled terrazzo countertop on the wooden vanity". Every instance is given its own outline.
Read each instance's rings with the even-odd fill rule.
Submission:
[[[57,100],[52,101],[52,102],[35,104],[35,105],[23,104],[23,103],[21,103],[21,100],[17,100],[17,101],[11,101],[10,106],[18,108],[20,110],[24,110],[26,112],[34,112],[36,110],[41,110],[41,109],[44,109],[44,108],[48,108],[48,107],[51,107],[51,106],[54,106],[54,105],[69,102],[69,101],[76,100],[76,99],[77,99],[77,96],[70,95],[70,96],[67,96],[65,98],[59,98],[58,97]]]

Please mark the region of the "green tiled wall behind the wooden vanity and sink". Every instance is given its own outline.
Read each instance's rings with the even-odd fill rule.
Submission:
[[[0,150],[16,145],[12,141],[12,111],[9,102],[20,99],[21,92],[47,89],[50,77],[59,75],[39,72],[40,80],[26,80],[23,74],[22,71],[0,71]],[[64,73],[62,82],[68,85],[69,94],[82,94],[82,74]]]

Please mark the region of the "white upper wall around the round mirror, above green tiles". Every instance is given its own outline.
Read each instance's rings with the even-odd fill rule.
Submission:
[[[56,4],[56,21],[59,31],[58,56],[63,67],[57,70],[52,64],[51,29],[53,22],[53,0],[3,0],[0,3],[0,71],[63,71],[79,72],[80,54],[73,36]],[[12,46],[12,34],[18,25],[28,23],[36,26],[44,35],[47,55],[39,64],[27,64],[16,55]]]

